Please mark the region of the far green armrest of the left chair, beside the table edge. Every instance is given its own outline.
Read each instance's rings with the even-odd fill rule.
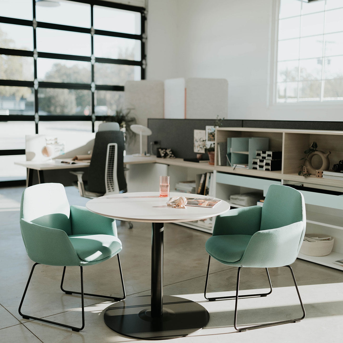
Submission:
[[[116,220],[88,211],[83,206],[70,206],[73,235],[111,235],[117,237]]]

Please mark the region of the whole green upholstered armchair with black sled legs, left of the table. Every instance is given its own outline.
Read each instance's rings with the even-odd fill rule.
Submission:
[[[25,319],[36,319],[80,331],[84,328],[84,295],[125,299],[125,288],[119,252],[121,241],[117,237],[116,221],[88,211],[82,206],[69,206],[63,185],[40,184],[24,190],[21,200],[20,229],[28,257],[35,262],[28,278],[19,306],[19,314]],[[118,257],[123,297],[103,296],[83,292],[85,265],[97,264]],[[37,264],[63,266],[61,290],[66,294],[81,294],[82,327],[76,328],[46,319],[24,315],[21,307]],[[63,289],[66,266],[80,266],[81,292]]]

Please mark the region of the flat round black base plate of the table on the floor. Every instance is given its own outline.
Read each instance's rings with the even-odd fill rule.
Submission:
[[[152,318],[151,296],[128,297],[104,311],[106,325],[125,336],[163,340],[186,336],[202,329],[209,321],[209,312],[194,301],[163,297],[163,315]]]

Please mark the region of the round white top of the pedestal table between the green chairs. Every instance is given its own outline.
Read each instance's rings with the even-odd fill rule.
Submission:
[[[121,193],[95,198],[86,203],[91,212],[109,218],[132,222],[177,223],[210,218],[230,209],[222,200],[213,208],[186,206],[186,209],[174,209],[166,205],[169,198],[125,198],[159,196],[158,192]],[[169,193],[170,197],[207,198],[199,194]],[[214,198],[216,200],[220,200]]]

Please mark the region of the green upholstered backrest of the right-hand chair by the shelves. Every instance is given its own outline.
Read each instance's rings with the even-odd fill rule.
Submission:
[[[275,229],[289,224],[303,222],[306,229],[306,211],[303,194],[298,190],[271,185],[265,197],[260,230]]]

